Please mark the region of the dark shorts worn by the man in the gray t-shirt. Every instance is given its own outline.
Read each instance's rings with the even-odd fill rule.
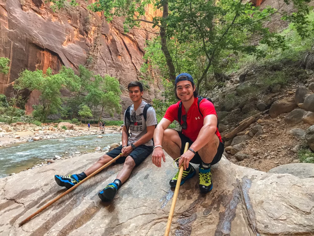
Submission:
[[[121,153],[122,145],[113,149],[112,151],[108,152],[107,155],[115,158],[117,155]],[[138,166],[143,162],[143,160],[146,159],[151,153],[153,152],[153,147],[146,146],[146,145],[140,145],[136,149],[134,149],[129,156],[131,156],[135,162],[135,166]],[[127,159],[126,156],[120,157],[118,160],[116,160],[116,163],[121,164],[125,162],[125,159]]]

